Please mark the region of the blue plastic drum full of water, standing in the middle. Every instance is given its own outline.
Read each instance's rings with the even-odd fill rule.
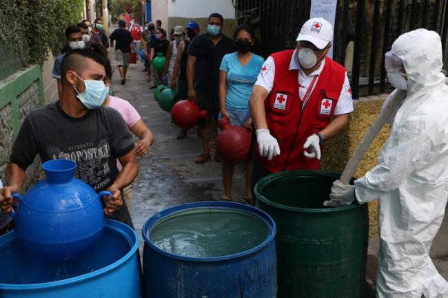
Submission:
[[[276,225],[234,202],[196,202],[152,216],[143,227],[145,298],[274,298]]]

